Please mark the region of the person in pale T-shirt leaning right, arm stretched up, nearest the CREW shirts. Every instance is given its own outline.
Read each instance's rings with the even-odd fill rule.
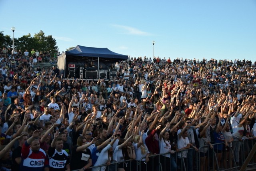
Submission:
[[[99,165],[104,165],[102,167],[94,167],[92,168],[92,171],[105,171],[106,170],[106,165],[110,165],[110,161],[113,159],[113,155],[111,153],[113,152],[113,147],[112,145],[116,141],[117,137],[114,137],[113,141],[111,141],[106,147],[100,151],[99,157],[94,164],[94,166],[99,166]]]

